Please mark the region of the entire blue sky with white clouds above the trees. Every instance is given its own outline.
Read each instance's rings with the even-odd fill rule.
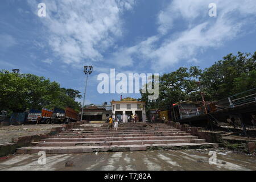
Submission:
[[[46,4],[46,17],[38,4]],[[217,17],[208,15],[216,3]],[[19,68],[84,92],[84,65],[93,65],[86,104],[99,94],[97,76],[201,69],[228,53],[256,51],[255,0],[2,0],[0,69]],[[139,97],[123,94],[123,97]]]

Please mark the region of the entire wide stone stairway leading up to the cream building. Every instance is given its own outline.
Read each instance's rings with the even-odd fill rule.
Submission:
[[[143,151],[161,149],[209,148],[207,143],[185,131],[162,123],[121,123],[118,130],[108,130],[106,124],[84,124],[57,135],[49,136],[30,147],[18,148],[18,154],[70,154],[84,152]]]

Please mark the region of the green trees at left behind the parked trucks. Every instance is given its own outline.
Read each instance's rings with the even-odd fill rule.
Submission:
[[[60,85],[44,77],[31,74],[0,71],[0,110],[23,112],[27,109],[47,107],[71,107],[80,110],[75,101],[80,98],[79,91],[61,89]]]

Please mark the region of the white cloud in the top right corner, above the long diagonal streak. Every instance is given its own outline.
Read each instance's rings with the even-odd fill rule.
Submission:
[[[158,15],[159,31],[166,33],[174,28],[176,19],[185,20],[188,26],[193,26],[195,20],[200,22],[202,19],[209,19],[208,5],[210,3],[216,3],[218,16],[225,16],[225,18],[232,18],[230,15],[238,18],[256,13],[254,0],[214,0],[214,2],[212,0],[174,0]]]

